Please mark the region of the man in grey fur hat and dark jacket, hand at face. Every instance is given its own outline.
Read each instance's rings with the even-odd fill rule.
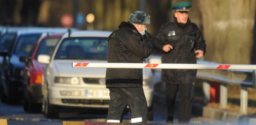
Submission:
[[[154,46],[146,32],[149,24],[150,16],[143,11],[135,11],[128,22],[121,22],[108,37],[108,63],[142,63],[148,58]],[[142,86],[142,69],[107,69],[108,123],[120,123],[126,106],[131,109],[131,123],[146,123],[148,106]]]

